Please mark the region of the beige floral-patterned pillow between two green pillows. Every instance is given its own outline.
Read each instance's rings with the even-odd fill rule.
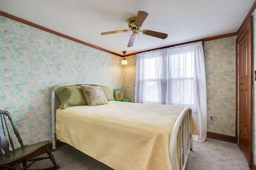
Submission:
[[[84,97],[88,106],[96,106],[102,104],[108,104],[108,100],[106,99],[104,92],[100,88],[100,86],[83,86],[81,85],[81,89],[84,93]]]

